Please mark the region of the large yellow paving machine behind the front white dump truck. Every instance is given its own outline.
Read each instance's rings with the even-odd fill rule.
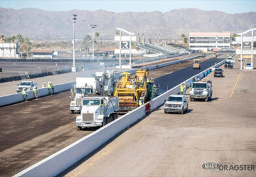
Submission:
[[[120,81],[116,83],[114,96],[119,98],[120,114],[127,113],[136,107],[152,100],[155,87],[148,79],[148,70],[136,70],[135,75],[123,72]]]

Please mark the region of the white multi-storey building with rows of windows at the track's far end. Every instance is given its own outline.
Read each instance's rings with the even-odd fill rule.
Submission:
[[[221,51],[231,48],[231,33],[189,33],[189,48]]]

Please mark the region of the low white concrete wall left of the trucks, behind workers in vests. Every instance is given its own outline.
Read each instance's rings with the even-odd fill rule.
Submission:
[[[75,82],[55,85],[54,86],[54,93],[70,90],[71,88],[74,87],[74,85],[75,85]],[[37,89],[37,96],[38,97],[46,96],[48,94],[49,94],[48,88],[39,88],[39,89]],[[35,99],[35,95],[34,95],[33,91],[28,91],[27,92],[27,99],[28,100]],[[13,103],[24,102],[24,101],[25,101],[25,99],[24,99],[24,96],[22,96],[22,93],[10,94],[10,95],[7,95],[7,96],[0,96],[0,106],[10,105],[10,104],[13,104]]]

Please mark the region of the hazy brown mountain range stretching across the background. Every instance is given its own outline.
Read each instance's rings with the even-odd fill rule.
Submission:
[[[189,32],[240,32],[256,27],[256,12],[227,14],[197,8],[182,8],[161,13],[154,12],[107,12],[104,10],[70,10],[54,12],[36,8],[14,10],[0,8],[0,34],[24,36],[64,36],[72,38],[72,14],[77,14],[76,36],[82,38],[91,33],[89,24],[97,24],[104,38],[114,38],[116,27],[145,36],[160,33],[168,38]]]

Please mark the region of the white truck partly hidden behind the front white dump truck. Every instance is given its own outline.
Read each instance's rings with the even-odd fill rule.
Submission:
[[[104,85],[96,77],[76,77],[76,86],[72,90],[71,113],[79,113],[81,100],[85,95],[104,94]]]

